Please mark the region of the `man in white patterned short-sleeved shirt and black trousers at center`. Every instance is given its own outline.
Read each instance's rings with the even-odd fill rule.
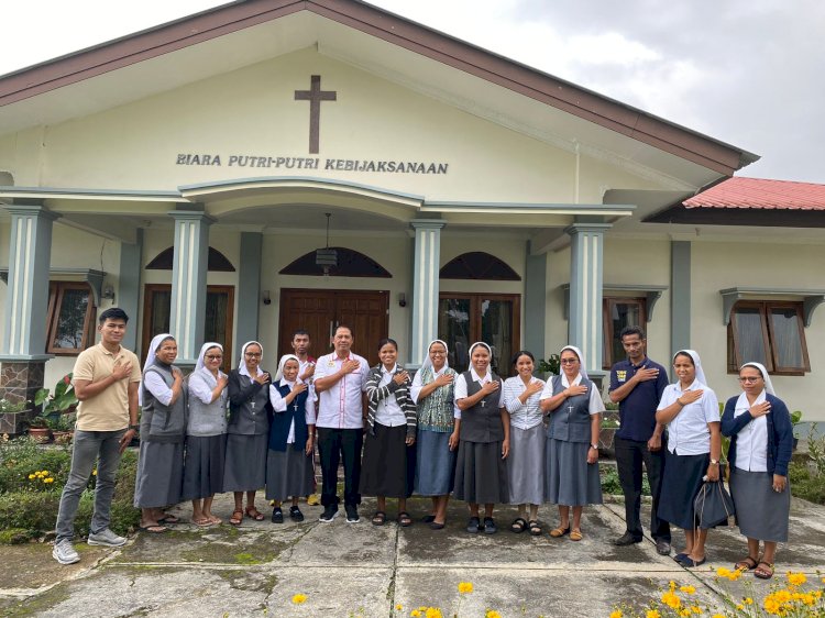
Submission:
[[[321,459],[321,521],[332,521],[338,515],[338,464],[343,457],[344,509],[346,521],[360,521],[361,446],[364,440],[364,407],[361,396],[370,376],[366,358],[353,354],[352,329],[339,325],[332,343],[336,351],[318,358],[315,388],[319,398],[318,452]]]

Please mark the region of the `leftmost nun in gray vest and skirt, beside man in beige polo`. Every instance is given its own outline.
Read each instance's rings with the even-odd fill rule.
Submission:
[[[172,364],[176,357],[175,338],[156,335],[138,391],[142,412],[134,506],[141,509],[140,528],[146,532],[165,532],[164,522],[177,521],[163,508],[179,503],[183,489],[187,408],[184,375]]]

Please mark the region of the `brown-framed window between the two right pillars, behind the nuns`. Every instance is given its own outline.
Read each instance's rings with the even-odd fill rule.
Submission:
[[[450,366],[465,372],[470,346],[483,341],[493,350],[493,371],[502,377],[510,375],[510,358],[521,338],[520,300],[518,295],[508,294],[441,294],[438,334],[449,346]]]

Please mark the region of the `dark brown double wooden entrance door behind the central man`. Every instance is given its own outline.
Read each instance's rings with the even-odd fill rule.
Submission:
[[[378,342],[389,332],[389,293],[282,288],[278,357],[293,352],[290,343],[296,330],[309,333],[311,356],[329,354],[339,324],[352,329],[352,351],[370,365],[377,364]]]

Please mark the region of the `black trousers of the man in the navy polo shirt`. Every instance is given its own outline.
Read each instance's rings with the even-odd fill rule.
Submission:
[[[616,466],[619,473],[622,492],[625,494],[625,519],[627,531],[636,539],[641,539],[641,464],[648,473],[650,494],[653,497],[653,509],[650,515],[650,536],[657,541],[670,542],[670,523],[659,519],[659,496],[662,489],[662,475],[664,472],[664,443],[658,451],[650,451],[647,442],[624,440],[614,438],[613,445],[616,451]]]

